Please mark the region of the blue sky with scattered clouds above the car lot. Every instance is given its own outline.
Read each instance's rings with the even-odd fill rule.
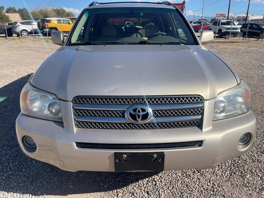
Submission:
[[[90,0],[92,2],[93,0]],[[97,0],[98,1],[98,0]],[[120,1],[120,0],[115,0]],[[127,0],[124,0],[127,1]],[[134,0],[136,1],[136,0]],[[146,1],[146,0],[140,0]],[[152,1],[152,0],[149,0]],[[154,0],[158,1],[158,0]],[[218,2],[217,2],[218,1]],[[110,0],[100,1],[99,2],[110,2]],[[172,3],[179,3],[182,0],[170,0]],[[64,7],[66,10],[72,11],[76,16],[82,11],[84,7],[89,4],[88,0],[15,0],[7,1],[1,0],[0,5],[3,5],[5,8],[9,6],[15,6],[16,8],[25,7],[33,9],[34,7],[43,7],[47,3],[53,7]],[[213,4],[214,3],[214,4]],[[215,13],[225,13],[228,11],[229,0],[205,0],[204,1],[204,11],[203,16],[213,17]],[[213,5],[211,5],[213,4]],[[201,9],[203,5],[203,0],[186,0],[186,14],[194,15],[194,11]],[[248,0],[231,0],[230,13],[231,15],[241,15],[247,12]],[[251,0],[249,14],[254,15],[263,15],[264,14],[264,0]],[[196,11],[196,15],[201,15],[201,10]]]

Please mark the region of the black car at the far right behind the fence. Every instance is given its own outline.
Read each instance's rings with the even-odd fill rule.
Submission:
[[[249,23],[248,31],[247,31],[247,24],[243,24],[241,27],[239,36],[243,37],[247,33],[247,37],[257,37],[262,39],[264,30],[264,23]]]

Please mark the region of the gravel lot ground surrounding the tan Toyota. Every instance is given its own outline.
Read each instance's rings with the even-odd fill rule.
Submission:
[[[20,91],[58,47],[0,41],[0,97],[7,97],[0,98],[0,197],[264,197],[264,41],[206,45],[251,89],[257,137],[250,151],[213,169],[161,173],[71,173],[22,153],[15,136]]]

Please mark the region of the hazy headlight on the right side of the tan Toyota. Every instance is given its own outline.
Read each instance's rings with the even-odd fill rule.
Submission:
[[[219,120],[246,113],[251,108],[251,93],[247,84],[241,82],[218,94],[215,100],[213,120]]]

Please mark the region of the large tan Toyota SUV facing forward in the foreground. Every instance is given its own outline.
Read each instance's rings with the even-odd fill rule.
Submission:
[[[142,37],[106,24],[120,16],[152,22]],[[211,168],[251,148],[249,87],[202,46],[213,32],[199,41],[168,1],[93,2],[66,39],[51,38],[61,48],[20,96],[17,140],[29,157],[67,171],[163,171]]]

